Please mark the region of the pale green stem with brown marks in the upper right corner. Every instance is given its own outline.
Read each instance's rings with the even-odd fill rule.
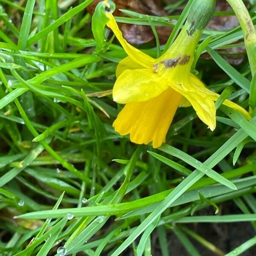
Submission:
[[[242,0],[227,0],[227,2],[239,19],[239,23],[244,33],[244,44],[250,63],[251,73],[254,75],[256,73],[256,30]]]

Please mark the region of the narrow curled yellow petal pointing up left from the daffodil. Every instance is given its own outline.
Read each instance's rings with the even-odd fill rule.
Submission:
[[[130,56],[133,61],[137,62],[141,66],[151,69],[152,65],[155,62],[155,59],[151,58],[150,56],[146,55],[145,53],[141,52],[140,50],[136,49],[131,44],[129,44],[123,38],[122,32],[118,28],[116,20],[114,19],[113,15],[111,13],[106,13],[106,15],[109,18],[107,26],[112,29],[112,31],[116,35],[116,38],[118,39],[118,41],[120,42],[128,56]]]

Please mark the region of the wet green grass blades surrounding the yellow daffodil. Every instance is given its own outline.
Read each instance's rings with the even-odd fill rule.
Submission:
[[[192,108],[180,108],[166,144],[153,149],[116,134],[122,106],[109,93],[92,94],[113,88],[126,56],[108,30],[102,40],[100,22],[91,27],[85,8],[92,0],[58,2],[0,0],[0,255],[169,256],[177,255],[173,243],[183,255],[254,255],[255,109],[247,121],[221,103],[229,97],[255,106],[256,77],[246,55],[233,67],[217,52],[236,46],[241,27],[205,30],[195,55],[198,76],[223,92],[215,131]],[[156,47],[141,48],[156,57],[191,3],[168,18],[123,10],[130,17],[117,20],[151,26]],[[253,21],[255,10],[251,1]],[[172,18],[179,18],[175,26]],[[158,25],[174,26],[165,46]],[[199,58],[205,52],[211,60]],[[227,249],[207,235],[217,224],[235,245]]]

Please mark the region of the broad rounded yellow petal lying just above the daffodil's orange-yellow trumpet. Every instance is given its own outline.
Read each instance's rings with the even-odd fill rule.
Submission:
[[[165,80],[148,69],[125,70],[116,79],[113,100],[124,104],[152,99],[168,88]]]

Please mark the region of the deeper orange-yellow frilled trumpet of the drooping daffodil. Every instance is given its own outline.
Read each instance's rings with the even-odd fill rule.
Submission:
[[[117,116],[113,127],[121,135],[130,134],[131,141],[160,147],[182,96],[168,88],[145,102],[128,103]]]

